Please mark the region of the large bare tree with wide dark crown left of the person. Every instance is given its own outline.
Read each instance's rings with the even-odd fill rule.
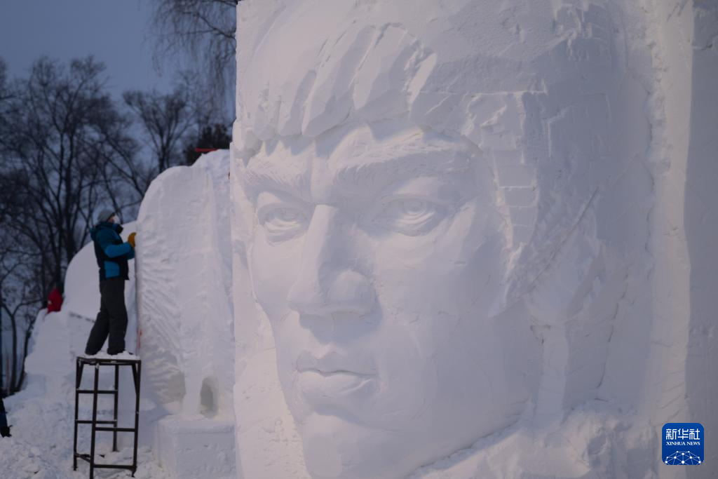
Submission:
[[[104,66],[91,57],[70,68],[42,58],[16,84],[0,126],[4,175],[11,175],[17,215],[11,225],[35,251],[47,251],[51,282],[88,239],[99,203],[105,157],[96,147],[118,121],[104,90]],[[47,291],[42,291],[43,294]]]

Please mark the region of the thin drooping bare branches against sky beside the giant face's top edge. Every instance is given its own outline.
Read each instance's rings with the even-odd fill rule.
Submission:
[[[223,111],[235,78],[239,0],[154,0],[156,58],[188,55],[206,101]],[[174,55],[172,55],[174,54]]]

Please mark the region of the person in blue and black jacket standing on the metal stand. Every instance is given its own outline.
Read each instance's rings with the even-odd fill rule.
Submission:
[[[127,309],[125,281],[129,279],[127,261],[134,258],[134,235],[125,243],[120,238],[122,226],[113,210],[102,210],[98,224],[90,230],[95,243],[95,258],[100,269],[100,312],[90,331],[85,354],[97,354],[109,335],[107,353],[116,355],[125,350]]]

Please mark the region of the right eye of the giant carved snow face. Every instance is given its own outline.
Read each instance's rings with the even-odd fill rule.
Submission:
[[[408,236],[429,233],[446,216],[442,205],[418,198],[391,200],[375,223]]]

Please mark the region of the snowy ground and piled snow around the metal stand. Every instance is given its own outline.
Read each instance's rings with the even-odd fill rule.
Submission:
[[[11,479],[63,479],[88,478],[89,465],[78,460],[78,470],[73,471],[73,415],[75,394],[73,389],[74,355],[67,348],[71,343],[86,339],[90,322],[80,317],[68,317],[60,312],[41,317],[37,323],[35,345],[27,362],[27,370],[33,371],[28,386],[19,394],[5,399],[8,421],[12,425],[12,437],[0,440],[0,477]],[[39,371],[39,372],[38,372]],[[85,371],[85,383],[90,380]],[[109,382],[109,373],[101,374],[101,381]],[[91,415],[88,398],[80,401],[80,417]],[[106,399],[108,401],[108,399]],[[99,415],[110,417],[109,402],[101,401]],[[123,419],[130,419],[120,414]],[[129,424],[127,424],[129,425]],[[140,429],[142,428],[140,424]],[[84,429],[84,430],[83,430]],[[128,464],[132,460],[131,434],[120,438],[120,450],[111,452],[111,434],[98,436],[97,462]],[[130,447],[122,447],[129,445]],[[90,451],[89,426],[80,428],[79,452]],[[99,469],[95,478],[126,478],[128,470]],[[136,478],[169,479],[154,460],[149,447],[138,450]]]

